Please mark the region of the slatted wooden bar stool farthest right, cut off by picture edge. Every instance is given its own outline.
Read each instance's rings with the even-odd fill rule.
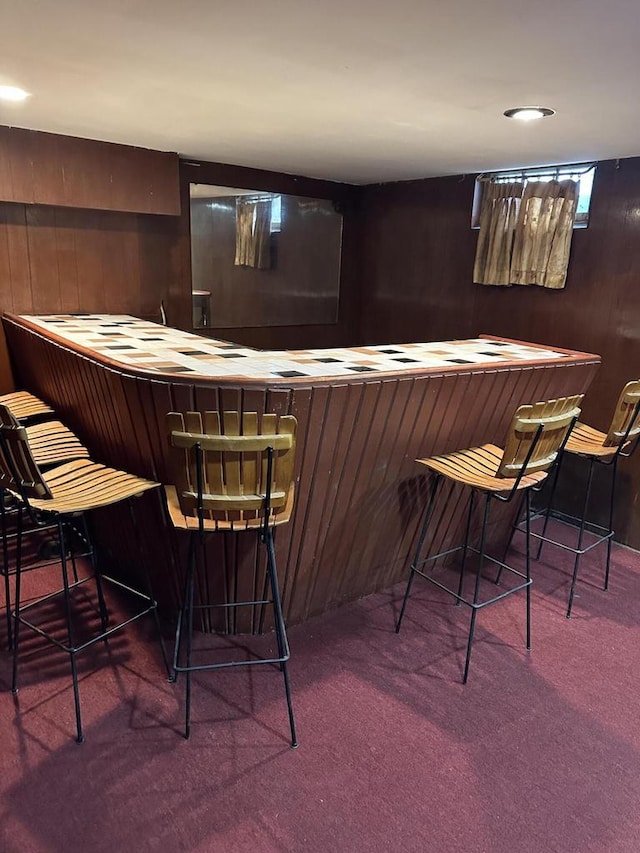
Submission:
[[[607,543],[607,556],[605,561],[604,571],[604,589],[609,588],[609,569],[611,564],[611,542],[615,535],[613,529],[613,509],[616,493],[616,481],[618,474],[618,461],[620,458],[626,459],[635,451],[640,439],[640,379],[634,379],[627,382],[620,396],[613,413],[613,418],[608,431],[601,432],[578,422],[573,428],[563,453],[560,456],[556,471],[553,477],[551,486],[551,495],[547,503],[546,509],[542,512],[534,513],[533,518],[544,515],[544,525],[542,533],[532,533],[531,535],[538,539],[540,544],[536,559],[539,559],[542,553],[542,547],[545,542],[563,548],[565,551],[571,551],[575,554],[573,564],[573,574],[571,576],[571,586],[569,588],[569,601],[567,604],[567,619],[571,618],[571,610],[573,607],[573,599],[578,580],[578,572],[580,568],[580,558],[587,551],[591,551],[597,545],[603,542]],[[562,469],[562,462],[567,453],[573,456],[584,459],[588,462],[587,479],[584,489],[584,502],[582,513],[579,516],[570,516],[564,513],[554,511],[553,502],[555,498],[556,486]],[[589,503],[592,494],[593,473],[596,465],[601,465],[607,468],[610,472],[610,490],[609,490],[609,507],[608,507],[608,524],[607,527],[595,524],[588,521]],[[547,526],[549,519],[554,518],[564,524],[575,527],[577,529],[577,541],[575,546],[566,545],[563,542],[558,542],[547,536]],[[522,523],[518,525],[518,529],[522,529]],[[591,534],[594,538],[585,544],[585,533]]]

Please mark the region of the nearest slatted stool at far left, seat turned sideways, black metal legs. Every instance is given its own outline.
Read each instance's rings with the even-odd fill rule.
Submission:
[[[162,634],[160,632],[156,601],[153,598],[144,561],[141,561],[147,586],[144,592],[140,592],[115,578],[102,574],[96,565],[95,554],[89,541],[89,533],[85,520],[85,513],[92,509],[110,506],[121,501],[129,501],[134,529],[137,530],[135,519],[133,518],[131,499],[142,495],[150,489],[158,488],[159,483],[134,477],[124,471],[107,468],[88,459],[66,462],[43,473],[31,452],[26,428],[15,422],[15,419],[12,418],[6,406],[0,405],[0,420],[0,487],[9,491],[19,501],[15,565],[16,591],[15,609],[13,611],[13,679],[11,689],[13,693],[18,692],[20,627],[24,625],[69,655],[76,715],[76,740],[78,743],[82,743],[84,741],[84,734],[82,730],[76,667],[76,656],[78,654],[89,646],[94,645],[94,643],[106,640],[115,631],[146,613],[153,612],[160,635],[167,672],[169,672]],[[28,531],[25,531],[23,526],[25,513],[31,518],[33,523],[33,527]],[[81,524],[80,528],[77,527],[77,523]],[[58,536],[62,589],[23,605],[20,596],[24,536],[34,533],[42,527],[50,527],[52,524],[56,526]],[[75,535],[70,535],[71,531]],[[77,555],[74,552],[74,543],[76,536],[80,537],[89,546],[88,556],[91,559],[93,567],[92,575],[80,579],[77,578],[77,574],[75,573],[75,559]],[[68,554],[70,554],[74,568],[74,580],[72,582],[69,581]],[[100,630],[93,632],[89,639],[79,642],[76,640],[78,620],[74,614],[72,593],[76,588],[83,586],[91,580],[95,580],[96,583]],[[126,590],[141,602],[140,608],[133,615],[128,616],[116,625],[109,624],[109,614],[103,593],[103,581],[108,581],[120,589]],[[54,636],[53,633],[47,630],[46,625],[32,622],[28,618],[30,611],[34,608],[58,596],[62,597],[64,601],[66,640],[58,639],[57,636]]]

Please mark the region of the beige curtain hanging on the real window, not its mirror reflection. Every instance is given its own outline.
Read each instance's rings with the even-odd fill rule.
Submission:
[[[577,200],[573,180],[485,184],[473,280],[564,287]]]

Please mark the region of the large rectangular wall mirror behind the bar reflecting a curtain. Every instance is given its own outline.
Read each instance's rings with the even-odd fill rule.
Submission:
[[[338,321],[333,201],[208,184],[189,195],[194,328]]]

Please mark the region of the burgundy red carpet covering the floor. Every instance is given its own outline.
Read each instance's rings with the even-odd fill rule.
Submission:
[[[599,550],[570,621],[536,564],[531,653],[522,594],[480,613],[464,687],[469,611],[419,580],[400,635],[403,587],[293,628],[295,751],[265,668],[199,678],[184,741],[150,622],[81,658],[83,746],[66,657],[26,642],[14,698],[3,652],[0,849],[638,853],[640,555],[604,593]]]

